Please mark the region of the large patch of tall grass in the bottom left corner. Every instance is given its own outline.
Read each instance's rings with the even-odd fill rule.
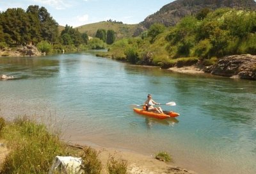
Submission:
[[[56,155],[70,155],[58,135],[28,118],[18,118],[2,130],[10,154],[0,173],[47,173]]]

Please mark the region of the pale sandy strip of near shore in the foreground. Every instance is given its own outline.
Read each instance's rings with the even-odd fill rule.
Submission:
[[[115,160],[126,160],[128,162],[128,174],[196,174],[194,171],[173,166],[172,162],[158,161],[152,156],[141,155],[124,150],[116,150],[113,148],[92,148],[99,152],[99,158],[102,161],[103,166],[102,174],[108,173],[106,166],[110,156],[114,157]],[[0,164],[3,162],[4,157],[8,155],[8,152],[6,146],[0,142]]]

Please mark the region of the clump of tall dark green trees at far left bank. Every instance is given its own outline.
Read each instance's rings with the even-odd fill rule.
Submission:
[[[35,44],[42,40],[55,43],[58,23],[44,7],[29,6],[26,12],[22,8],[8,8],[0,13],[0,35],[0,42],[8,45]]]

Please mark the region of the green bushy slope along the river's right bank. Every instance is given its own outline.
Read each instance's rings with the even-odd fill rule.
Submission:
[[[140,36],[118,40],[108,53],[98,55],[168,68],[197,62],[208,66],[233,54],[256,54],[256,12],[203,9],[170,28],[153,24]]]

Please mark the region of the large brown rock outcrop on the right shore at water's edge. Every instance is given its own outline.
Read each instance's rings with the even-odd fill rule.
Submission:
[[[225,77],[256,80],[256,56],[251,54],[225,56],[216,65],[205,67],[204,72]]]

